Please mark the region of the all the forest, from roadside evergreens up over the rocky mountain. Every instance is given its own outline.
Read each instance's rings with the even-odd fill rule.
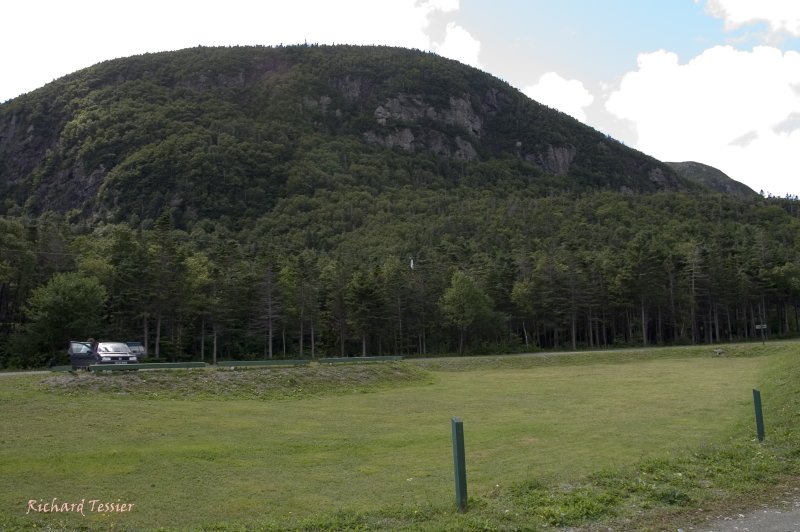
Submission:
[[[109,61],[0,105],[0,360],[795,335],[800,203],[724,185],[423,52]]]

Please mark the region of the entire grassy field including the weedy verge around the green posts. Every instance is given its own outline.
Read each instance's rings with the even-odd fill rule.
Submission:
[[[791,447],[797,409],[775,398],[792,395],[798,346],[6,376],[0,527],[663,523],[794,471],[778,443],[752,441],[751,389],[765,390],[770,439]],[[456,415],[464,515],[454,514]],[[26,513],[29,500],[53,498],[134,507]]]

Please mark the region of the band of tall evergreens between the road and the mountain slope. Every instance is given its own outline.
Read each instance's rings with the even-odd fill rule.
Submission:
[[[62,363],[88,337],[214,362],[800,331],[796,200],[348,189],[243,229],[178,219],[0,218],[2,365]]]

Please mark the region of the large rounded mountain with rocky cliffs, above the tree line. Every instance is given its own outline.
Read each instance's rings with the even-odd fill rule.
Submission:
[[[107,61],[0,106],[0,213],[179,225],[342,186],[547,194],[695,182],[507,83],[388,47],[193,48]]]

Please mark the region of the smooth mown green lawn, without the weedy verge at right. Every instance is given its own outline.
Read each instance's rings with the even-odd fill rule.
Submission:
[[[85,376],[72,387],[54,385],[52,376],[2,377],[0,525],[281,528],[414,511],[438,512],[435,522],[446,524],[456,415],[464,420],[469,494],[477,501],[532,480],[577,483],[598,470],[725,442],[736,431],[751,438],[750,390],[770,356],[675,350],[629,358],[346,366],[337,375],[393,368],[410,378],[399,386],[316,382],[310,390],[299,388],[303,372],[322,370],[292,368],[280,374],[297,393],[243,388],[219,392],[220,399],[196,384],[214,370],[176,372],[157,385],[140,382],[150,378],[143,372]],[[189,380],[197,388],[174,391]],[[53,497],[134,509],[25,515],[29,499]]]

